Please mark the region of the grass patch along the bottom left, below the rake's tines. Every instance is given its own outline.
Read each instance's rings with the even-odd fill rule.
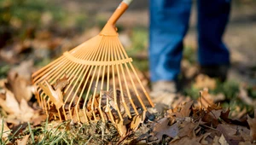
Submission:
[[[90,125],[81,125],[73,124],[70,120],[55,123],[49,122],[47,119],[38,127],[32,127],[29,122],[24,131],[20,131],[21,127],[10,134],[5,141],[2,140],[3,130],[0,131],[0,144],[13,144],[15,140],[20,140],[26,135],[30,136],[27,144],[38,145],[108,144],[108,142],[119,141],[115,127],[110,123],[102,123],[101,121]]]

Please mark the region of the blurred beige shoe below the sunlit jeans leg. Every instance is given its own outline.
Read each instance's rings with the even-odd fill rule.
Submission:
[[[152,84],[150,96],[155,103],[155,108],[159,112],[165,107],[172,106],[177,94],[176,83],[174,81],[157,81]]]

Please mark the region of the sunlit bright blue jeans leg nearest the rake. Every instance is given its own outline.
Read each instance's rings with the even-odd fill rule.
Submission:
[[[150,0],[149,61],[151,81],[172,81],[180,73],[183,37],[191,0]]]

